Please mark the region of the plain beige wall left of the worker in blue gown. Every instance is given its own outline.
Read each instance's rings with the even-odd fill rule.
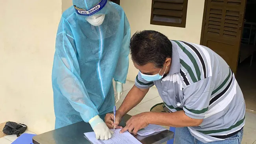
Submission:
[[[0,3],[0,123],[54,129],[51,71],[61,0]]]

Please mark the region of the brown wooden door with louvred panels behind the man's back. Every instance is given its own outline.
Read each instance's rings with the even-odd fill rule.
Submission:
[[[246,0],[206,0],[201,44],[236,72]]]

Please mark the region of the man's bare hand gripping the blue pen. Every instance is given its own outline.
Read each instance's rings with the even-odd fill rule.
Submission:
[[[122,115],[119,111],[115,112],[115,125],[114,125],[114,114],[113,113],[107,113],[105,116],[105,122],[109,129],[113,129],[115,126],[115,129],[122,129],[122,126],[119,126],[120,122],[122,120]]]

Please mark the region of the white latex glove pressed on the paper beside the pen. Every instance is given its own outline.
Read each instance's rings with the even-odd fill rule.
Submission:
[[[111,131],[106,123],[100,118],[100,116],[96,115],[91,120],[89,120],[89,124],[93,128],[93,131],[95,132],[96,139],[101,140],[108,140],[111,138],[111,134],[113,134],[113,131]]]

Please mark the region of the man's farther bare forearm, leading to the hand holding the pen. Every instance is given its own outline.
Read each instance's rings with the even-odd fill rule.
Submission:
[[[134,85],[125,97],[124,102],[122,102],[121,106],[117,110],[121,113],[121,116],[124,116],[128,111],[139,104],[147,94],[148,90],[149,89],[139,89]]]

